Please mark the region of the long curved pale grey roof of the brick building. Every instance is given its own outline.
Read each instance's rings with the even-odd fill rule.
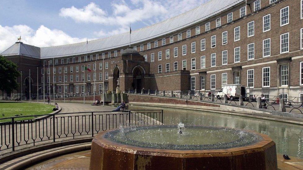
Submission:
[[[202,20],[216,15],[222,11],[227,10],[245,0],[210,0],[190,11],[184,12],[177,16],[171,17],[167,20],[159,23],[133,30],[131,33],[131,44],[137,44],[155,37],[160,37],[165,34],[172,33],[179,29],[196,24]],[[30,56],[40,56],[40,58],[57,58],[73,55],[82,55],[92,52],[99,52],[104,50],[110,50],[129,45],[129,32],[113,35],[106,38],[96,39],[88,41],[88,50],[86,50],[86,41],[66,44],[61,46],[49,46],[49,47],[35,47],[35,46],[22,46],[22,54]],[[2,55],[17,54],[18,44],[14,44],[4,52]],[[23,47],[26,47],[24,50]],[[16,49],[15,49],[16,48]],[[20,48],[21,49],[21,48]],[[40,50],[38,52],[38,50]],[[27,53],[26,53],[27,52]],[[21,53],[21,50],[20,52]]]

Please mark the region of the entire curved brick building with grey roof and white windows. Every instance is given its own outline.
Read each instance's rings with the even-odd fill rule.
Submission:
[[[303,94],[302,5],[302,0],[210,0],[133,30],[131,49],[129,33],[123,33],[41,48],[16,42],[1,55],[22,71],[24,97],[29,97],[29,81],[37,94],[37,67],[40,96],[45,73],[45,90],[50,81],[56,97],[64,90],[68,96],[83,95],[83,90],[92,94],[94,85],[100,93],[103,81],[106,89],[116,91],[118,77],[122,92],[142,88],[208,92],[224,84],[241,84],[250,94],[299,97]],[[54,71],[48,70],[49,65]],[[2,96],[20,94],[21,87]]]

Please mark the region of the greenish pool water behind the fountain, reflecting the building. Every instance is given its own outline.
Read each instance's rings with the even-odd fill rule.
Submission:
[[[278,153],[303,158],[302,125],[165,107],[142,107],[129,105],[129,109],[163,109],[163,120],[166,125],[175,125],[182,122],[185,125],[230,127],[264,133],[269,135],[269,137],[276,143]]]

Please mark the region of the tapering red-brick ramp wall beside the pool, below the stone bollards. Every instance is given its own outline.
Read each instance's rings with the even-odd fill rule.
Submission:
[[[178,99],[178,98],[160,97],[160,96],[138,95],[138,94],[128,94],[128,101],[129,102],[144,102],[144,103],[195,105],[195,106],[205,106],[205,107],[220,107],[220,105],[212,104],[212,103],[205,103],[205,102]]]

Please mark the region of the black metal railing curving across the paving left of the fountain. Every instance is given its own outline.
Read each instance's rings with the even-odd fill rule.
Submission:
[[[39,116],[35,119],[29,117]],[[28,120],[16,120],[17,118]],[[94,137],[120,126],[163,124],[163,110],[98,111],[2,118],[0,155],[49,142]]]

